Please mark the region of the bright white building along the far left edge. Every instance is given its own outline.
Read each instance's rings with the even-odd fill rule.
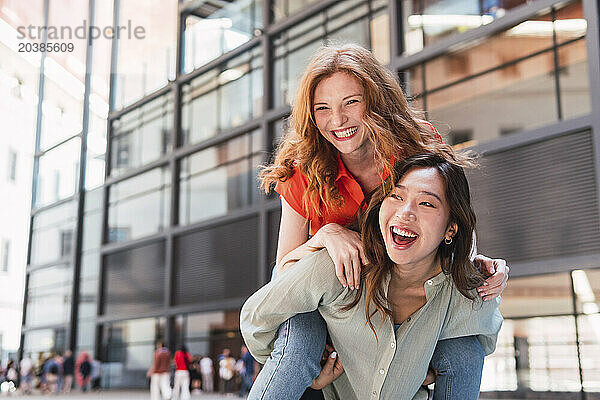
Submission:
[[[0,354],[19,348],[38,103],[39,57],[16,53],[0,19]],[[36,60],[38,59],[37,64]],[[16,355],[12,358],[16,359]]]

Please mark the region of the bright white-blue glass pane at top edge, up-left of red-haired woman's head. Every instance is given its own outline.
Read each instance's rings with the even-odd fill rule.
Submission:
[[[246,43],[262,29],[262,0],[202,4],[185,19],[184,72]]]

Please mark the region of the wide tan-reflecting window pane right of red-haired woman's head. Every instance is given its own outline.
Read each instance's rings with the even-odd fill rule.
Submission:
[[[435,91],[426,100],[430,120],[472,131],[475,144],[557,121],[555,93],[549,51]]]

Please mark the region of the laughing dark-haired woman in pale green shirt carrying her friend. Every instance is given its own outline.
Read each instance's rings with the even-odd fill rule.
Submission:
[[[344,365],[317,378],[327,399],[426,399],[421,384],[438,341],[469,337],[490,354],[502,324],[499,299],[476,296],[485,277],[469,260],[475,214],[462,167],[420,154],[393,172],[395,182],[376,190],[360,217],[368,263],[358,292],[342,286],[319,250],[242,308],[242,334],[259,362],[282,322],[319,311]],[[470,373],[480,377],[482,368]]]

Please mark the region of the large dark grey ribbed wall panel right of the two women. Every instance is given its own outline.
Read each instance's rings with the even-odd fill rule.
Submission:
[[[509,262],[600,250],[590,131],[483,157],[469,175],[479,251]]]

